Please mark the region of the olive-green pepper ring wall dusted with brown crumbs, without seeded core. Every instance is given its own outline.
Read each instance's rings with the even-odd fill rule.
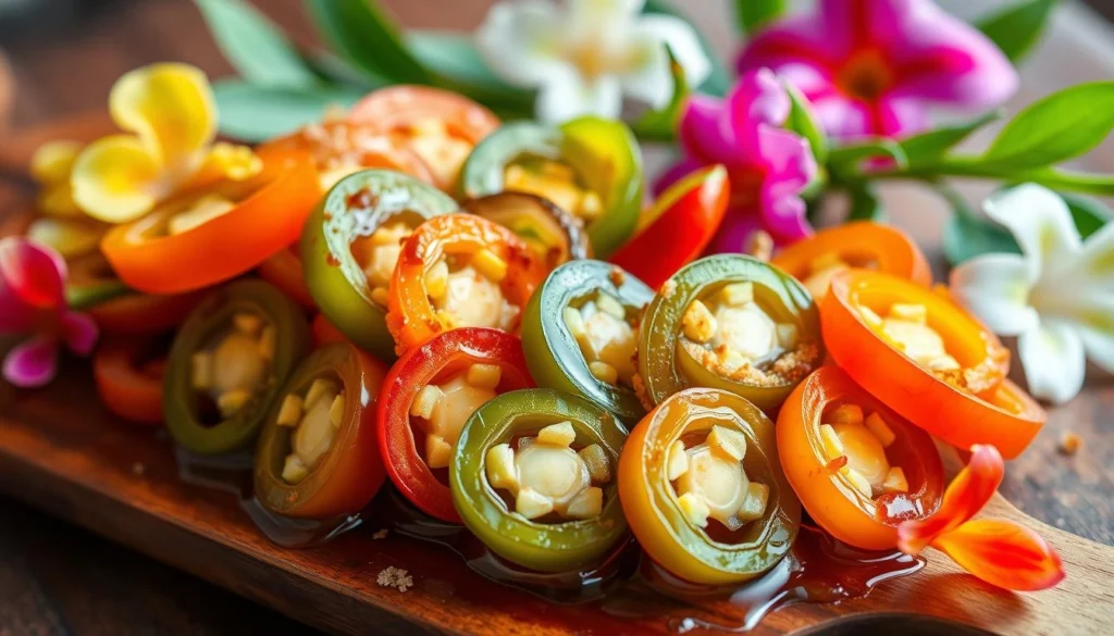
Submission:
[[[734,283],[751,283],[754,302],[779,324],[792,325],[797,344],[779,354],[774,373],[758,381],[732,380],[697,361],[683,346],[685,314],[693,302],[720,293]],[[820,314],[809,293],[792,276],[750,256],[717,254],[693,262],[665,282],[643,316],[638,333],[639,394],[659,404],[688,387],[723,389],[746,398],[766,412],[776,411],[801,380],[823,360]],[[779,361],[788,360],[784,370]],[[758,369],[758,366],[750,366]],[[746,371],[747,366],[741,366]]]

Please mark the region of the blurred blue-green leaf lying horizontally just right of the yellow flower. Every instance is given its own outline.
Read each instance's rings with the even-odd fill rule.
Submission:
[[[221,112],[221,133],[243,141],[264,141],[321,121],[332,105],[348,108],[363,97],[359,88],[297,89],[237,80],[213,85]]]

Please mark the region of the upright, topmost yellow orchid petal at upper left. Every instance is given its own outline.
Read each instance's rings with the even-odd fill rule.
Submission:
[[[139,135],[172,172],[186,176],[216,138],[213,89],[189,65],[156,63],[125,74],[113,86],[108,109],[120,128]]]

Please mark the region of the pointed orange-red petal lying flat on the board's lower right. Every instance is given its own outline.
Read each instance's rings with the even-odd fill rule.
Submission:
[[[932,547],[959,567],[1005,589],[1035,591],[1064,580],[1064,565],[1040,535],[1013,521],[979,519],[945,532]]]

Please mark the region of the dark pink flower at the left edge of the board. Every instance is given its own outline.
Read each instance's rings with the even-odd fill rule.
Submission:
[[[29,340],[8,352],[3,376],[17,387],[41,387],[55,376],[58,345],[87,355],[97,325],[71,312],[65,294],[66,262],[22,236],[0,238],[0,335]]]

